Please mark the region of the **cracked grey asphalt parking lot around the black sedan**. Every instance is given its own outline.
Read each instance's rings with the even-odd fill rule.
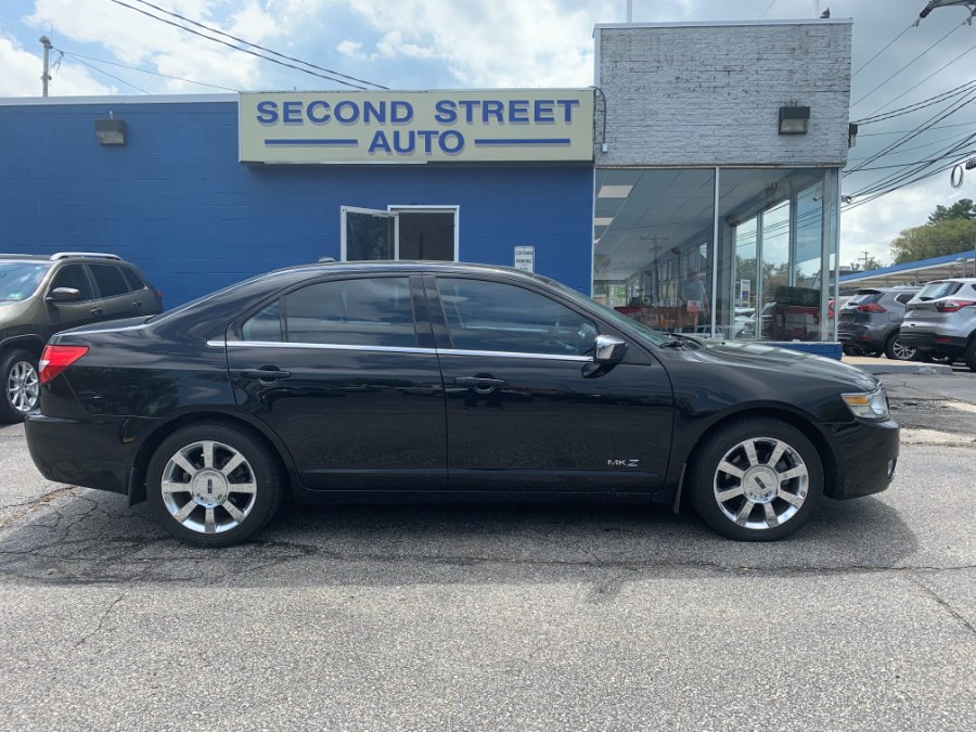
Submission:
[[[286,506],[221,551],[0,427],[8,729],[976,729],[976,374],[789,541],[617,505]]]

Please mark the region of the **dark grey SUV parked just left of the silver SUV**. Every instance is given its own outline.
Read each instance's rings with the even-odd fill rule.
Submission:
[[[837,338],[848,356],[884,354],[896,361],[912,361],[914,348],[901,339],[906,306],[921,287],[864,287],[842,307]]]

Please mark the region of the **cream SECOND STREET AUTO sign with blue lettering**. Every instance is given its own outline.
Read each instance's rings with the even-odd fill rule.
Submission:
[[[593,90],[242,92],[242,163],[591,162]]]

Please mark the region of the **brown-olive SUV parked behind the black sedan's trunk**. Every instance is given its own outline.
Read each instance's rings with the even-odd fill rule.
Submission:
[[[162,311],[162,294],[113,254],[0,254],[0,422],[20,422],[37,406],[38,360],[51,335]]]

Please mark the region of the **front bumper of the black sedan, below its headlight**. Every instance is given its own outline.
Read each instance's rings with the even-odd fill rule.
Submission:
[[[831,429],[837,459],[837,479],[826,495],[860,498],[885,490],[895,478],[900,427],[895,420],[834,425]]]

